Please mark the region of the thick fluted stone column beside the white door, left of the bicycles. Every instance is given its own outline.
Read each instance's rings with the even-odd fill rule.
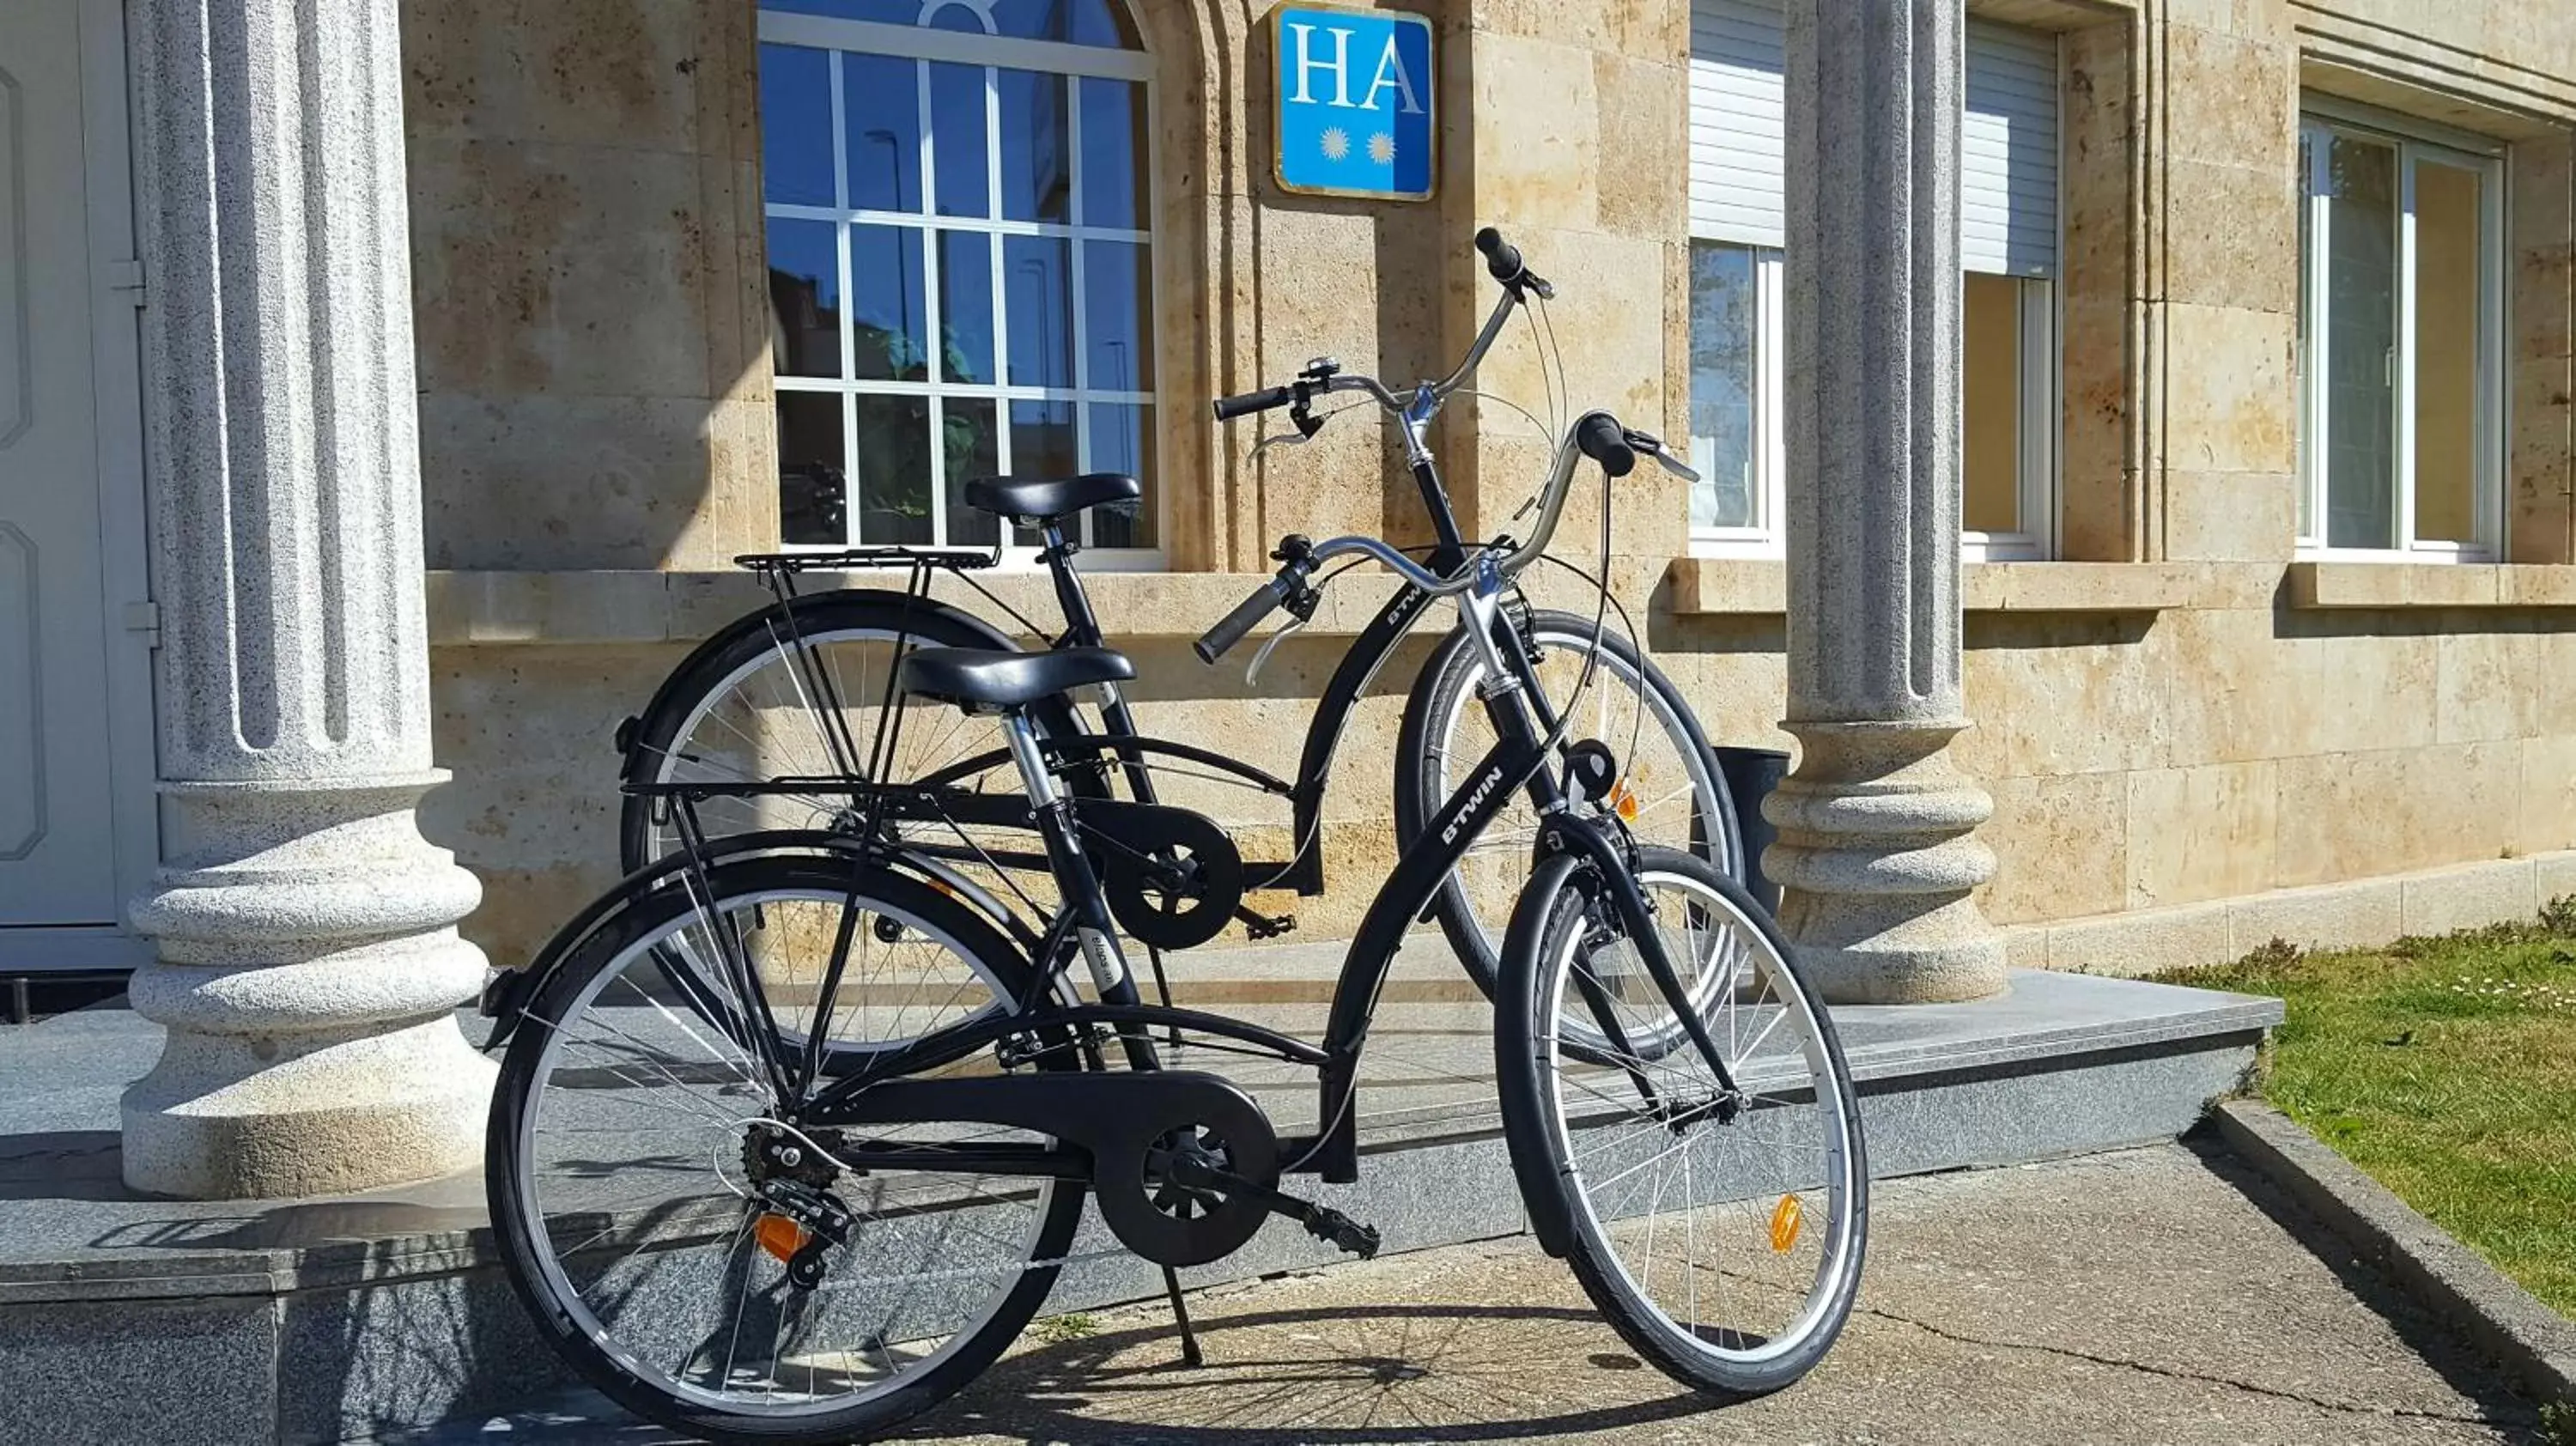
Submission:
[[[451,1010],[479,884],[430,848],[394,0],[129,0],[147,276],[170,1041],[126,1183],[296,1196],[479,1160]]]

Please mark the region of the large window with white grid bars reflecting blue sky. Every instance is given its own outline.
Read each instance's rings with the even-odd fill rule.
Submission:
[[[992,474],[1131,472],[1151,549],[1151,62],[1123,0],[765,0],[786,546],[992,544]]]

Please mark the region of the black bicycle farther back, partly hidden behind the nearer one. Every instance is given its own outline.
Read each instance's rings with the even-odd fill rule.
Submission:
[[[1504,286],[1466,361],[1448,379],[1427,381],[1399,402],[1378,381],[1342,374],[1334,361],[1324,358],[1309,363],[1288,384],[1216,402],[1218,420],[1283,407],[1296,428],[1293,441],[1321,430],[1332,412],[1319,412],[1316,402],[1332,394],[1370,394],[1373,402],[1394,412],[1401,420],[1412,474],[1437,536],[1422,557],[1435,580],[1461,577],[1481,549],[1458,531],[1427,446],[1427,425],[1445,400],[1471,384],[1476,366],[1502,335],[1515,307],[1553,294],[1497,232],[1479,232],[1476,242],[1486,250],[1489,271]],[[1010,753],[992,719],[945,714],[889,727],[886,714],[925,706],[922,699],[894,686],[896,665],[907,650],[1015,647],[1012,637],[984,616],[933,598],[930,583],[940,575],[956,577],[963,588],[981,593],[981,601],[997,613],[1010,616],[1020,631],[1051,637],[1059,650],[1100,647],[1100,616],[1092,611],[1082,572],[1074,567],[1079,546],[1069,541],[1066,528],[1087,508],[1121,508],[1136,505],[1136,479],[1118,474],[1036,482],[984,479],[966,487],[969,505],[1036,536],[1038,559],[1051,572],[1054,595],[1064,613],[1061,629],[1038,626],[981,588],[976,572],[992,567],[997,552],[876,546],[737,559],[760,572],[778,601],[706,639],[670,673],[652,704],[618,729],[618,747],[626,755],[623,781],[629,784],[621,817],[623,866],[629,871],[647,869],[677,848],[677,825],[665,799],[649,789],[654,784],[878,778],[1015,786]],[[1301,546],[1306,546],[1303,539],[1288,539],[1283,552]],[[1510,539],[1494,539],[1486,546],[1510,549]],[[1288,557],[1278,557],[1278,562],[1288,562]],[[1556,567],[1564,567],[1569,580],[1597,585],[1597,577],[1582,570]],[[801,590],[801,577],[835,570],[896,570],[904,583]],[[1144,804],[1162,802],[1154,768],[1162,763],[1221,773],[1234,784],[1285,799],[1285,858],[1247,858],[1242,863],[1244,882],[1247,889],[1293,889],[1301,897],[1314,897],[1324,892],[1321,820],[1334,753],[1352,709],[1422,621],[1422,613],[1430,611],[1432,598],[1435,593],[1412,577],[1396,580],[1388,601],[1352,639],[1324,686],[1309,717],[1293,778],[1280,778],[1211,747],[1190,750],[1146,740],[1118,683],[1095,688],[1097,727],[1072,696],[1061,696],[1030,706],[1030,729],[1051,755],[1092,763],[1092,768],[1066,778],[1066,786],[1082,796],[1123,791]],[[1314,613],[1309,598],[1283,598],[1283,606],[1298,624]],[[1564,729],[1564,747],[1582,740],[1613,747],[1618,778],[1602,807],[1618,812],[1641,840],[1698,853],[1741,879],[1744,851],[1734,802],[1708,750],[1708,737],[1680,688],[1631,642],[1633,629],[1602,626],[1597,616],[1538,608],[1522,595],[1517,580],[1504,595],[1502,613],[1520,637],[1512,657],[1525,665],[1522,686],[1530,691],[1543,727],[1556,732],[1556,709],[1569,688],[1579,675],[1592,678],[1584,717],[1571,719],[1574,727]],[[1260,662],[1255,662],[1257,668]],[[1396,737],[1394,825],[1399,848],[1422,838],[1440,802],[1466,778],[1466,763],[1497,737],[1489,711],[1479,706],[1479,693],[1494,678],[1486,668],[1484,650],[1471,642],[1461,621],[1440,639],[1412,680]],[[1144,758],[1141,750],[1149,747],[1159,747],[1159,755]],[[1540,827],[1538,809],[1540,796],[1522,791],[1504,820],[1486,830],[1440,887],[1440,928],[1486,995],[1494,992],[1494,956],[1510,902],[1533,858]],[[791,789],[706,799],[698,822],[708,838],[778,827],[850,830],[853,812],[845,796],[827,789]],[[1244,833],[1242,820],[1229,817],[1226,822],[1234,825],[1234,833]],[[938,848],[935,840],[930,845]],[[1020,858],[1020,863],[1030,861]],[[1234,920],[1244,925],[1249,938],[1275,936],[1293,923],[1247,907],[1231,915],[1198,910],[1188,920],[1180,918],[1180,910],[1164,910],[1136,915],[1128,923],[1133,923],[1131,938],[1146,946],[1159,979],[1164,949],[1206,943]]]

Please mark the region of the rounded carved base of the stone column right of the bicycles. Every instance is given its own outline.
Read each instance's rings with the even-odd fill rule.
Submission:
[[[1780,724],[1798,771],[1762,804],[1777,843],[1780,928],[1837,1005],[1917,1005],[1994,995],[2004,941],[1976,907],[1994,851],[1973,838],[1994,812],[1947,745],[1965,722]]]

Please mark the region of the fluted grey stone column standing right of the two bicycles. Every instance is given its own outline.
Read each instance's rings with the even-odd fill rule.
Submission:
[[[1960,8],[1788,5],[1788,719],[1765,815],[1826,998],[2004,985],[1960,706]]]

